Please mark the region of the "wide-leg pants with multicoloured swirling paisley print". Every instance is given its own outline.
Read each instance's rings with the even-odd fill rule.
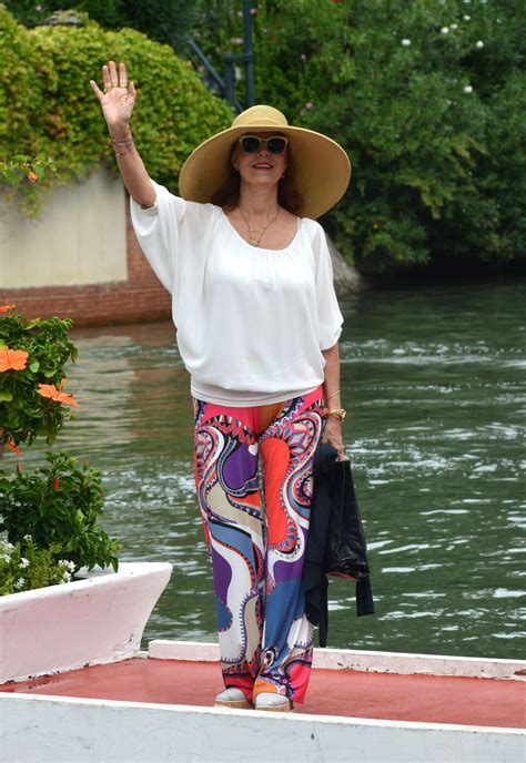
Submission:
[[[194,400],[223,679],[249,700],[276,692],[302,703],[308,683],[313,629],[301,578],[322,405],[321,387],[257,407]]]

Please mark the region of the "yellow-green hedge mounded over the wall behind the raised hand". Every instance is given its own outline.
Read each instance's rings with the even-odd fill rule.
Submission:
[[[168,45],[83,18],[83,27],[28,30],[0,6],[0,157],[52,156],[57,175],[43,177],[39,189],[80,180],[101,162],[117,172],[89,81],[101,81],[109,59],[123,60],[138,89],[132,128],[139,151],[151,176],[175,190],[188,154],[231,123],[230,106]],[[41,193],[23,175],[16,191],[26,211],[37,211]]]

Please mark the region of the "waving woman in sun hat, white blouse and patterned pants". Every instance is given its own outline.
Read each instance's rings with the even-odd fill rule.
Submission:
[[[215,704],[289,711],[303,702],[312,662],[301,577],[313,456],[323,439],[344,458],[343,318],[313,218],[343,195],[351,165],[328,138],[253,106],[192,153],[174,196],[133,143],[124,64],[110,61],[102,77],[104,93],[91,87],[191,374],[225,685]]]

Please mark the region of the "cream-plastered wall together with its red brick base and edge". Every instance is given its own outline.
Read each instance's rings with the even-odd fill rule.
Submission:
[[[14,304],[29,318],[70,317],[77,326],[169,319],[170,294],[158,281],[136,242],[122,182],[111,180],[107,171],[101,170],[87,186],[85,190],[72,183],[50,194],[50,203],[44,206],[38,226],[19,216],[12,205],[2,204],[0,199],[0,305]],[[94,212],[87,210],[88,202],[82,206],[81,201],[87,199]],[[73,242],[71,248],[61,244],[60,224],[50,226],[47,221],[48,216],[59,220],[64,205],[75,210],[74,223],[68,223]],[[26,237],[30,246],[38,243],[32,262],[40,271],[39,282],[34,281],[31,267],[24,265],[26,243],[17,238],[19,250],[13,244],[14,236],[19,236],[13,231],[16,220],[20,222],[20,236]],[[75,234],[75,226],[80,233]],[[111,228],[109,238],[102,241],[108,226]],[[65,262],[62,256],[60,266],[55,266],[59,244],[67,256]],[[77,276],[72,279],[75,268]],[[30,285],[36,283],[40,285]]]

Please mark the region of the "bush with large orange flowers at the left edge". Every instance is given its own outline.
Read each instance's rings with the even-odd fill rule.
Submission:
[[[68,338],[72,322],[27,321],[10,307],[0,308],[0,441],[31,445],[40,435],[52,444],[72,417],[62,404],[75,404],[61,391],[63,367],[77,359],[77,347]]]

